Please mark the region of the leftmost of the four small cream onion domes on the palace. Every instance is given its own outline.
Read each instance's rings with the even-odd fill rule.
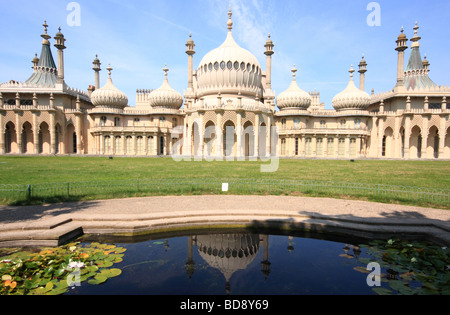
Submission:
[[[111,65],[108,70],[108,81],[101,89],[95,90],[91,95],[92,104],[98,107],[124,108],[128,105],[128,97],[117,89],[111,79]]]

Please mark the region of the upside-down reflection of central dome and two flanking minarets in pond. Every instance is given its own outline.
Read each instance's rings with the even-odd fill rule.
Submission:
[[[256,234],[215,234],[188,237],[186,272],[189,278],[195,271],[193,246],[211,267],[220,270],[225,277],[225,288],[230,292],[230,279],[238,270],[246,269],[256,258],[260,244],[264,248],[261,271],[267,279],[270,273],[269,236]]]

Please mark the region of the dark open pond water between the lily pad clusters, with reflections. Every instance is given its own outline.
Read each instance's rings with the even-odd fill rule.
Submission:
[[[87,240],[84,240],[87,242]],[[165,235],[124,247],[122,270],[101,285],[83,282],[67,295],[347,295],[375,294],[355,270],[359,240],[255,232]]]

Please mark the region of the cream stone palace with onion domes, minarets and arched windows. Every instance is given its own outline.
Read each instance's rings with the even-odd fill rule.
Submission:
[[[0,85],[0,154],[178,156],[200,159],[306,158],[450,159],[450,88],[429,77],[420,55],[419,27],[397,38],[397,78],[391,91],[364,91],[367,63],[353,66],[348,86],[326,110],[319,92],[296,81],[278,96],[272,90],[274,43],[265,43],[266,65],[228,34],[194,70],[195,43],[186,43],[188,84],[184,95],[169,84],[169,69],[156,90],[136,92],[135,106],[114,86],[112,68],[100,86],[101,63],[93,62],[88,91],[64,81],[65,41],[54,37],[55,64],[44,23],[40,58],[25,82]]]

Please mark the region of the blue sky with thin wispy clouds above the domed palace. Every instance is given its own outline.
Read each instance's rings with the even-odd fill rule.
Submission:
[[[94,84],[92,61],[102,62],[101,85],[108,63],[117,88],[134,106],[136,89],[158,88],[170,69],[169,82],[183,94],[187,87],[186,41],[195,41],[194,68],[227,34],[228,8],[233,11],[233,36],[266,68],[264,44],[268,33],[275,44],[272,86],[277,94],[291,82],[305,91],[319,91],[325,107],[342,91],[353,64],[362,54],[368,63],[366,92],[391,90],[396,82],[395,40],[404,26],[408,39],[418,22],[422,57],[429,60],[430,77],[439,85],[450,84],[450,1],[382,0],[380,26],[369,26],[370,0],[96,0],[77,1],[80,25],[70,26],[71,11],[63,0],[1,1],[0,82],[25,81],[32,73],[31,60],[41,51],[42,24],[47,20],[52,37],[61,26],[65,35],[66,83],[87,90]],[[408,43],[410,45],[411,42]],[[51,40],[56,62],[56,49]],[[410,49],[406,51],[406,61]],[[358,74],[358,73],[356,73]],[[356,81],[359,80],[359,74]]]

